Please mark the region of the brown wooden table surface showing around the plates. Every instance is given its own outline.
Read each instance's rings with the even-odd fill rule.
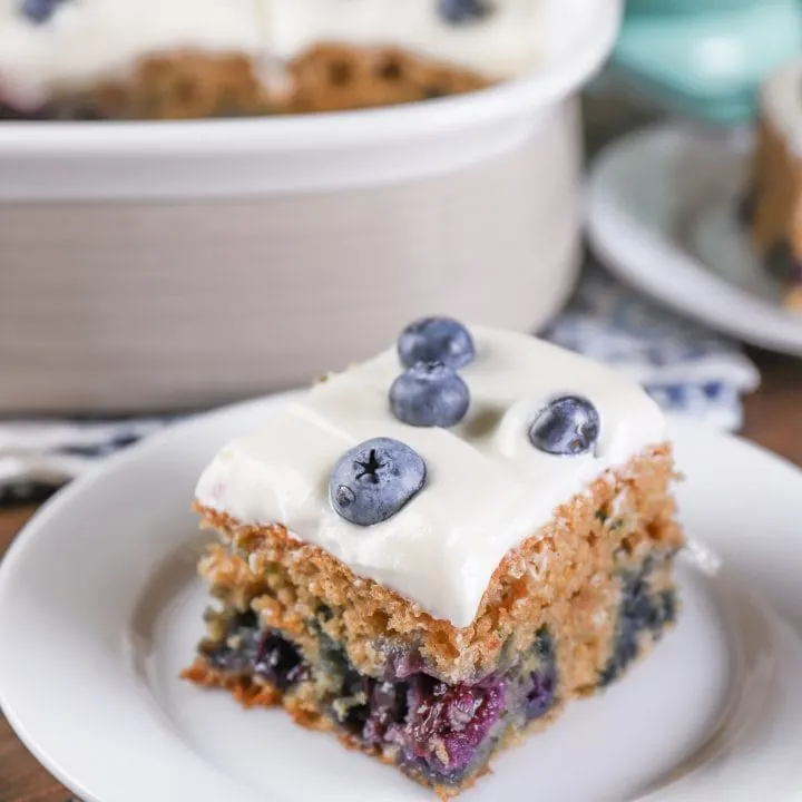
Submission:
[[[802,362],[753,351],[763,387],[746,400],[745,437],[802,466]],[[0,512],[0,554],[32,509]],[[0,715],[0,802],[68,802],[71,796],[17,741]]]

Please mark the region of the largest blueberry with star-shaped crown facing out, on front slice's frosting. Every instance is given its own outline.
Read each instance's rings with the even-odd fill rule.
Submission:
[[[427,467],[409,446],[391,438],[366,440],[348,451],[329,478],[334,511],[356,526],[392,518],[426,483]]]

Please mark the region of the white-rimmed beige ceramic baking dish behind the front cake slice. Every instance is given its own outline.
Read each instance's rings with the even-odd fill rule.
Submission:
[[[579,254],[576,92],[620,0],[541,0],[524,79],[403,107],[0,124],[0,412],[291,387],[418,315],[530,330]]]

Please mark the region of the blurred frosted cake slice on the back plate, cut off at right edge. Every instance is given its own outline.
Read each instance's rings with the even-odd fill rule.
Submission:
[[[761,124],[743,216],[766,270],[802,312],[802,60],[774,72],[761,91]]]

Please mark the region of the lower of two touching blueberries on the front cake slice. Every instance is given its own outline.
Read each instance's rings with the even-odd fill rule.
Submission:
[[[418,362],[390,388],[392,413],[410,426],[457,426],[469,405],[468,385],[453,368],[442,362]]]

